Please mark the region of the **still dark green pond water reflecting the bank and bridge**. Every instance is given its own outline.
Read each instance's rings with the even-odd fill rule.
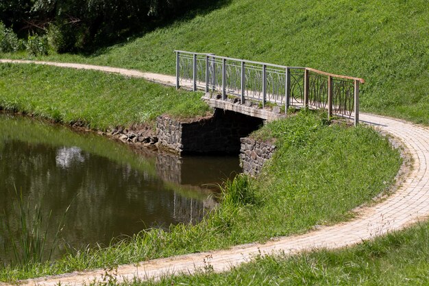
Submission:
[[[3,221],[17,233],[15,190],[22,191],[30,212],[36,204],[46,217],[51,212],[49,245],[70,206],[56,257],[66,246],[106,245],[113,237],[145,228],[197,222],[214,204],[206,184],[240,171],[236,157],[178,158],[136,151],[95,134],[0,115]],[[0,248],[8,239],[0,230]],[[7,261],[5,255],[0,259]]]

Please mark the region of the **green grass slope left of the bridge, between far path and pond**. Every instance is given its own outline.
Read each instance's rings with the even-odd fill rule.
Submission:
[[[0,108],[106,130],[153,123],[163,113],[205,115],[201,93],[138,78],[34,64],[0,64]]]

